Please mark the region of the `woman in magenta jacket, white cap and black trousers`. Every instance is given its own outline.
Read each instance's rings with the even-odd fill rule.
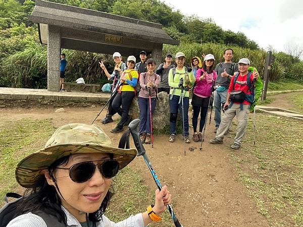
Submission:
[[[212,94],[212,84],[216,81],[217,73],[213,70],[215,58],[213,54],[207,54],[201,69],[198,69],[195,78],[195,87],[192,96],[192,126],[193,141],[202,141],[202,130],[206,122],[206,115],[209,106],[210,96]],[[201,110],[201,113],[200,113]],[[197,132],[198,116],[200,113],[199,132]]]

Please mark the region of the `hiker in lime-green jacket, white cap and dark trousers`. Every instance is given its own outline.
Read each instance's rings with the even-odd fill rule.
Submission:
[[[185,143],[190,143],[189,132],[188,132],[189,89],[194,84],[195,79],[192,74],[191,68],[184,67],[185,54],[183,52],[178,52],[176,53],[175,58],[176,58],[177,67],[171,69],[168,75],[168,84],[171,87],[169,94],[170,137],[168,141],[169,142],[175,141],[175,136],[177,134],[176,123],[177,123],[178,109],[179,109],[181,121],[182,121],[181,125],[184,133],[183,139]],[[182,102],[181,92],[183,92],[183,102]],[[183,128],[183,122],[184,122],[184,128]]]

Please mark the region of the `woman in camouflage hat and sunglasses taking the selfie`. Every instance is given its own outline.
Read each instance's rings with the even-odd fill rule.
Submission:
[[[113,196],[113,177],[136,157],[135,149],[113,147],[96,125],[60,127],[43,149],[23,158],[16,168],[18,183],[27,188],[7,226],[146,226],[171,202],[164,186],[155,206],[114,223],[105,215]],[[119,190],[119,189],[117,189]]]

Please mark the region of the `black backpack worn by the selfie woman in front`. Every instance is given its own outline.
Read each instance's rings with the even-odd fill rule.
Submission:
[[[8,198],[15,198],[14,201],[9,202]],[[23,196],[14,193],[14,192],[9,192],[4,196],[4,200],[7,202],[6,205],[4,205],[0,209],[0,227],[6,227],[8,223],[14,219],[14,214],[15,214],[15,209],[16,207],[22,202]],[[56,226],[56,227],[65,227],[66,225],[62,222],[59,222],[57,217],[54,217],[52,215],[49,215],[47,213],[44,213],[42,211],[34,211],[34,214],[39,215],[44,222],[46,223],[47,226]]]

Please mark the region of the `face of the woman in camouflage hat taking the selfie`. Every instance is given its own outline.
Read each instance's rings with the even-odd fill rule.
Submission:
[[[76,163],[84,161],[94,161],[94,164],[102,164],[105,159],[110,159],[108,154],[75,154],[69,158],[68,163],[57,167],[69,168]],[[72,181],[69,177],[68,169],[56,168],[54,177],[64,198],[61,198],[62,205],[76,217],[79,215],[79,211],[92,213],[99,209],[113,180],[112,178],[104,178],[99,171],[98,165],[96,166],[92,177],[83,183]],[[60,196],[60,193],[58,193],[58,195]]]

